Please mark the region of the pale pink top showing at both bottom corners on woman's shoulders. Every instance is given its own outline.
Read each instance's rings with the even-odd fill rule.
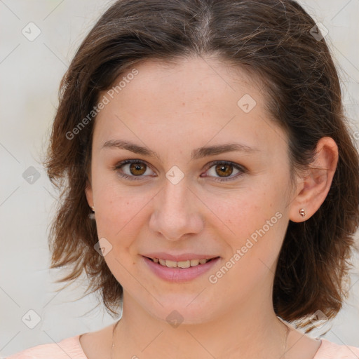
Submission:
[[[6,359],[88,359],[80,344],[80,334],[57,344],[42,344],[8,356]],[[359,359],[359,348],[321,339],[313,359]]]

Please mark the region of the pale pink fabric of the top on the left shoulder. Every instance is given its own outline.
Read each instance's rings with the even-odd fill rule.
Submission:
[[[88,359],[79,340],[80,335],[53,344],[41,344],[15,353],[6,359]]]

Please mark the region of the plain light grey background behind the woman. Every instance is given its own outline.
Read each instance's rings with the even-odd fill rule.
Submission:
[[[344,102],[359,140],[359,0],[300,1],[329,30],[329,41],[343,81]],[[99,330],[114,322],[95,297],[83,297],[85,282],[55,292],[47,236],[55,194],[41,166],[55,108],[57,88],[76,48],[112,1],[0,0],[1,182],[0,182],[0,355]],[[34,22],[41,34],[29,41],[22,29]],[[34,34],[34,32],[32,32]],[[358,141],[357,141],[358,143]],[[39,179],[22,177],[30,166]],[[36,177],[34,177],[35,179]],[[358,256],[348,304],[325,338],[359,346]],[[22,318],[41,320],[29,329]],[[327,326],[325,326],[327,327]],[[313,332],[313,336],[323,332]]]

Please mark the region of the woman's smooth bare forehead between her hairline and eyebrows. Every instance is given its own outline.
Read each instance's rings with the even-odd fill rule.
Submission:
[[[97,115],[95,137],[102,145],[130,137],[180,151],[235,140],[265,147],[268,140],[278,142],[278,135],[285,142],[284,133],[269,119],[257,83],[241,69],[209,58],[147,60],[101,93],[109,102]]]

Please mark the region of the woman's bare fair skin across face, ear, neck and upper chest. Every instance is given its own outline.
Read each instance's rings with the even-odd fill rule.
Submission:
[[[280,247],[289,220],[308,219],[325,200],[337,145],[330,137],[321,139],[313,167],[326,170],[306,170],[291,184],[287,135],[270,119],[264,94],[241,69],[202,57],[172,66],[148,60],[136,69],[134,79],[97,115],[86,187],[98,237],[112,246],[104,259],[124,291],[114,358],[280,358],[285,325],[272,303]],[[248,113],[237,104],[245,94],[257,103]],[[118,139],[147,146],[161,160],[102,148]],[[191,161],[193,149],[229,142],[257,151]],[[126,159],[144,161],[139,180],[120,177],[136,177],[130,165],[114,169]],[[229,166],[233,172],[223,175],[211,161],[231,161],[245,172],[234,178],[239,171]],[[173,165],[184,173],[177,184],[165,177]],[[215,182],[227,177],[233,180]],[[300,208],[306,210],[304,219]],[[276,213],[281,215],[276,224],[210,283],[208,277]],[[194,280],[168,283],[149,271],[141,256],[157,251],[221,259]],[[178,327],[166,320],[174,310],[183,318]],[[112,329],[81,336],[89,359],[110,358]],[[291,329],[285,358],[313,358],[320,342]]]

